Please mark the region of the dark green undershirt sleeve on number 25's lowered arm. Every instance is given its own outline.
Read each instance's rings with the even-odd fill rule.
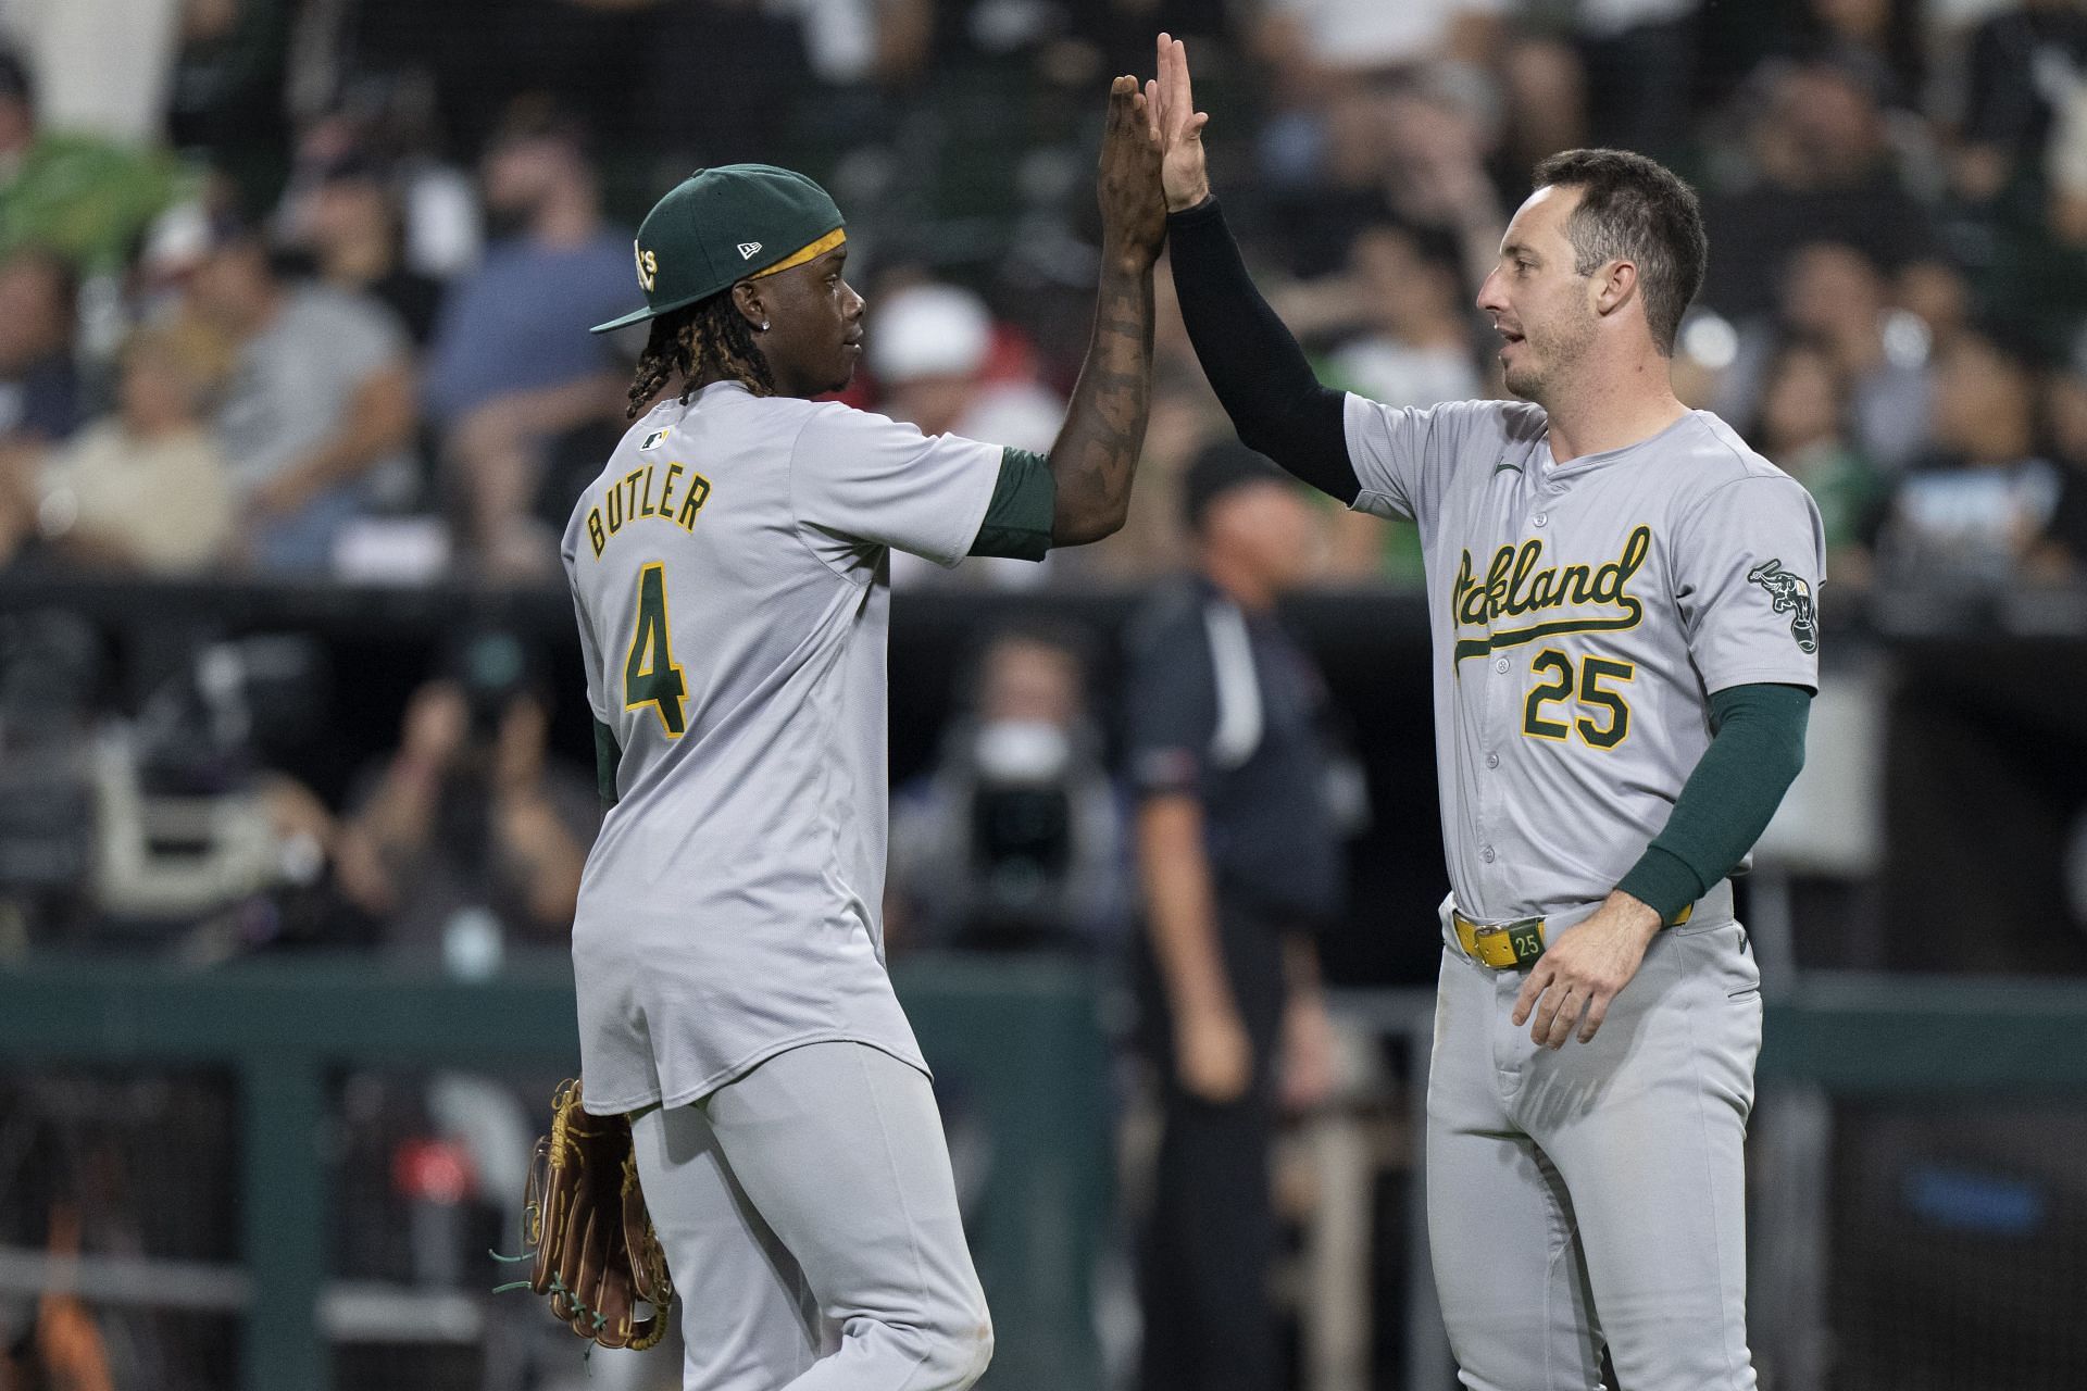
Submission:
[[[1617,884],[1674,922],[1738,868],[1805,765],[1812,692],[1803,686],[1730,686],[1709,699],[1709,749],[1630,874]]]

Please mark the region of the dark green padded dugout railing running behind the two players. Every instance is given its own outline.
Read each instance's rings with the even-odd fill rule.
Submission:
[[[1079,970],[1006,959],[912,963],[899,989],[945,1089],[962,1097],[993,1155],[973,1218],[998,1312],[989,1385],[1098,1387],[1094,1278],[1112,1185],[1106,995]],[[1409,1078],[1421,1080],[1428,991],[1348,993],[1338,1011],[1400,1041],[1415,1059]],[[330,1301],[338,1322],[344,1295],[476,1299],[476,1291],[342,1291],[330,1280],[334,1176],[321,1143],[330,1076],[355,1066],[572,1066],[572,1020],[570,974],[555,961],[486,982],[361,961],[184,972],[44,959],[0,972],[0,1070],[207,1066],[236,1078],[242,1233],[234,1268],[17,1255],[0,1262],[0,1285],[48,1280],[113,1299],[236,1310],[240,1387],[323,1391]],[[2087,1095],[2083,1026],[2083,982],[1809,976],[1768,1005],[1764,1107],[1803,1097],[1947,1107]],[[1407,1095],[1417,1107],[1421,1089]],[[1784,1149],[1768,1164],[1778,1166],[1778,1187],[1801,1187],[1797,1170],[1816,1160],[1814,1134],[1795,1157]],[[1419,1187],[1409,1193],[1419,1203]],[[1757,1230],[1757,1251],[1764,1237]],[[1409,1258],[1405,1385],[1442,1391],[1450,1372],[1425,1247],[1411,1243]]]

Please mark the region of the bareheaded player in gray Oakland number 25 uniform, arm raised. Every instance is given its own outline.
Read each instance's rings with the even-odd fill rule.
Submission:
[[[1657,163],[1536,169],[1478,304],[1519,400],[1321,388],[1210,198],[1160,35],[1181,315],[1240,438],[1411,517],[1432,613],[1450,897],[1428,1228],[1465,1387],[1753,1387],[1743,1141],[1759,972],[1741,868],[1803,763],[1818,509],[1670,386],[1703,277]]]

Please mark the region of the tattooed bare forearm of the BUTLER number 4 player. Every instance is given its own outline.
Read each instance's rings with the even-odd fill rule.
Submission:
[[[1094,338],[1050,450],[1058,475],[1052,542],[1081,546],[1123,526],[1152,407],[1152,273],[1108,269]]]

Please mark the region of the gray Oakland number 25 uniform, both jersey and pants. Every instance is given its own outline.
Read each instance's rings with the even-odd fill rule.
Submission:
[[[1350,396],[1357,507],[1428,563],[1453,899],[1572,930],[1668,822],[1709,697],[1816,686],[1809,494],[1716,415],[1551,461],[1542,409]],[[1745,1137],[1759,970],[1720,884],[1659,932],[1592,1043],[1511,1022],[1524,972],[1457,947],[1428,1078],[1428,1230],[1465,1387],[1751,1391]]]

